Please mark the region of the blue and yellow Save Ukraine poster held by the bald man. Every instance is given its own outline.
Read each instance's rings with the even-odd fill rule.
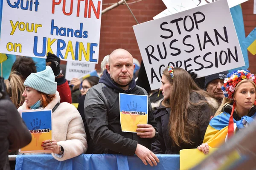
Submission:
[[[138,124],[148,124],[148,96],[119,93],[120,122],[123,132],[136,132]]]

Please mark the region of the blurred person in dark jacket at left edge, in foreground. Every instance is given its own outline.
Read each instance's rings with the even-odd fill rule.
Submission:
[[[9,150],[18,150],[31,142],[32,136],[16,106],[5,93],[0,77],[0,170],[9,170]]]

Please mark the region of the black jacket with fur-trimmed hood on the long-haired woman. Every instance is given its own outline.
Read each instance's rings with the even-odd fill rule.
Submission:
[[[196,102],[198,100],[206,100],[202,98],[199,94],[192,92],[191,100]],[[212,108],[218,106],[218,103],[214,99],[208,99],[207,102],[212,105]],[[198,109],[197,115],[197,125],[198,128],[195,129],[194,133],[191,134],[190,139],[193,144],[180,144],[180,147],[177,145],[172,146],[172,139],[169,136],[169,115],[170,108],[165,108],[162,105],[154,111],[154,117],[157,122],[158,129],[158,138],[152,144],[151,150],[155,154],[180,154],[180,150],[182,149],[192,149],[196,148],[198,145],[203,143],[205,131],[209,125],[209,121],[211,116],[214,115],[214,111],[209,105],[205,104],[200,109]]]

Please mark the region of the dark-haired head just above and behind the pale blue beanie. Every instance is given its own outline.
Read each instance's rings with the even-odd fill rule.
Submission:
[[[36,73],[35,62],[31,57],[18,57],[12,65],[11,72],[17,72],[24,82],[31,73]]]

